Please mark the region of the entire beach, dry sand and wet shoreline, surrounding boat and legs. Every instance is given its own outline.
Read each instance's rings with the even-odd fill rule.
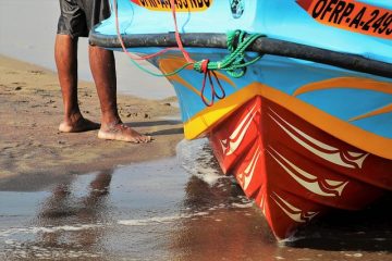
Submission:
[[[278,241],[260,208],[222,174],[208,139],[184,139],[170,83],[121,52],[114,53],[120,116],[152,142],[60,133],[58,5],[0,2],[0,261],[392,260],[390,194]],[[79,107],[99,123],[87,45],[79,39]]]

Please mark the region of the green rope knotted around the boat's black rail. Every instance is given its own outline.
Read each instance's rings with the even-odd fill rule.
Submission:
[[[245,59],[245,50],[248,48],[257,38],[264,36],[260,34],[254,34],[245,38],[246,33],[243,30],[234,30],[228,33],[228,50],[231,52],[228,57],[225,57],[222,61],[219,62],[209,62],[207,65],[208,70],[223,70],[226,71],[228,74],[234,78],[240,78],[245,75],[246,67],[256,63],[261,55],[246,61]],[[234,48],[234,41],[237,39],[237,47]],[[201,64],[203,61],[196,62],[194,64],[194,70],[197,72],[203,71]]]

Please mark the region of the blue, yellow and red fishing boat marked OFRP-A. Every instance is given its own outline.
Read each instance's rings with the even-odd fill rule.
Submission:
[[[392,190],[390,0],[112,0],[112,11],[90,45],[162,72],[185,138],[208,137],[278,239]]]

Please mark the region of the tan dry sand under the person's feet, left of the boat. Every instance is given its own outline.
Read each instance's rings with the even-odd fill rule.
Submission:
[[[83,114],[99,122],[94,84],[81,82],[78,94]],[[152,135],[151,144],[100,140],[97,130],[59,133],[62,98],[57,74],[0,55],[0,178],[87,173],[174,156],[183,128],[180,121],[164,120],[179,117],[179,109],[171,105],[173,101],[174,97],[145,100],[119,96],[122,120],[136,130]]]

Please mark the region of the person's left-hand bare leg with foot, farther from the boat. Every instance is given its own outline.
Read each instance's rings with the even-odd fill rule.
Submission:
[[[64,120],[59,130],[76,133],[99,128],[99,124],[83,117],[77,103],[77,37],[58,34],[54,59],[64,105]]]

